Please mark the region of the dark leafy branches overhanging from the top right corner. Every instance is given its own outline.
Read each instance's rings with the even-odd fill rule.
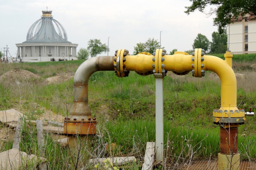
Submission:
[[[185,7],[184,11],[188,15],[196,10],[208,15],[215,14],[213,25],[218,26],[218,31],[222,34],[226,30],[226,26],[230,24],[232,19],[242,16],[247,13],[252,13],[256,16],[256,1],[255,0],[189,0],[192,4]],[[205,8],[211,6],[211,10],[206,12]]]

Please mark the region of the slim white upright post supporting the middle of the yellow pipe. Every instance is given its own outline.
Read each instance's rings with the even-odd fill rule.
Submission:
[[[163,161],[163,75],[156,78],[156,160]]]

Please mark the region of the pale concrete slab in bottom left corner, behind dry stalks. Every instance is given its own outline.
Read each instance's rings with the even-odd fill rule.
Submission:
[[[12,169],[25,169],[28,166],[35,168],[39,164],[39,167],[45,167],[47,160],[43,157],[37,157],[33,154],[27,155],[25,152],[21,152],[18,149],[10,149],[0,153],[0,169],[12,170]],[[43,168],[42,168],[43,169]]]

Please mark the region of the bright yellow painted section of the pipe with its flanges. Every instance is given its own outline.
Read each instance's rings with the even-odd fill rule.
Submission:
[[[136,71],[139,73],[154,72],[162,73],[162,70],[173,71],[176,73],[188,73],[194,71],[195,77],[204,76],[204,71],[215,72],[221,80],[221,107],[223,112],[214,112],[214,117],[244,117],[244,112],[232,113],[230,110],[238,110],[236,107],[236,76],[232,70],[232,54],[227,51],[226,60],[219,57],[204,55],[201,48],[194,51],[194,55],[188,55],[185,52],[175,52],[174,55],[165,55],[162,49],[157,49],[154,56],[146,54],[126,55],[122,53],[125,50],[117,50],[116,59],[119,63],[120,73],[117,76],[123,76],[123,68],[127,71]]]

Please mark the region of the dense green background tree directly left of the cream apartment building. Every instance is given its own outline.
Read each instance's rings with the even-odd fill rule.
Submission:
[[[210,42],[210,50],[212,53],[221,54],[227,50],[227,34],[212,33],[212,42]]]

